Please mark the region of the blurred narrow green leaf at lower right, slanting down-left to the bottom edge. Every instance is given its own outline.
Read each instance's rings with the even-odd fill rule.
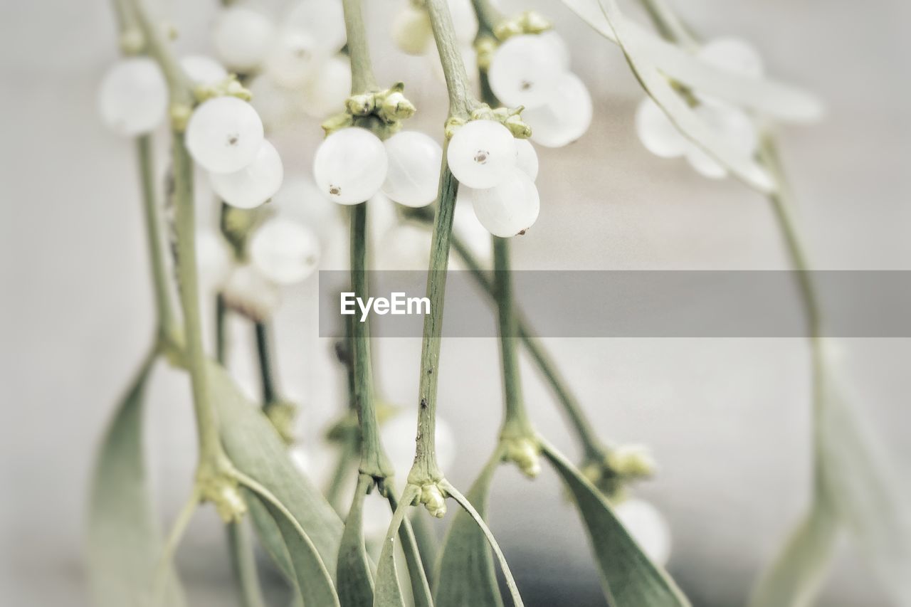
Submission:
[[[760,576],[750,607],[807,607],[832,561],[838,520],[828,500],[816,499],[781,554]]]

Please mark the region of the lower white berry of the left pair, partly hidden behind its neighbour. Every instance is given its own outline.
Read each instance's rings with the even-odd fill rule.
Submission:
[[[281,157],[272,144],[263,139],[256,158],[233,173],[210,173],[212,190],[232,207],[252,209],[271,199],[281,188],[284,170]]]

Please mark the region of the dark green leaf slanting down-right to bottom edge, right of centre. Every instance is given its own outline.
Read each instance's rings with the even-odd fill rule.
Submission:
[[[619,607],[689,605],[670,576],[640,549],[608,502],[557,449],[541,440],[544,455],[566,483],[589,531],[604,592]]]

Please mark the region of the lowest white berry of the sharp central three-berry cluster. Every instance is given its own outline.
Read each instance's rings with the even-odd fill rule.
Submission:
[[[540,211],[535,183],[518,169],[495,188],[472,190],[470,196],[477,221],[500,238],[525,233]]]

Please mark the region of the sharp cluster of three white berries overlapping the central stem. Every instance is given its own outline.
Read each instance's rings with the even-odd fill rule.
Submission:
[[[486,231],[509,238],[537,221],[537,153],[527,139],[496,120],[472,120],[455,130],[446,159],[458,201],[472,205]]]

